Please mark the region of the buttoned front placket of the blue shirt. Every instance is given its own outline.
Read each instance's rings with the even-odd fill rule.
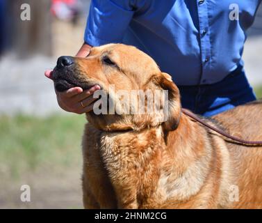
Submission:
[[[199,20],[199,42],[202,63],[202,74],[199,84],[208,83],[208,71],[211,68],[211,43],[208,26],[208,0],[197,0],[198,20]]]

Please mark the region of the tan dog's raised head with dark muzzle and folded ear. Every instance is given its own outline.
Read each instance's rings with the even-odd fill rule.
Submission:
[[[86,58],[61,56],[53,72],[57,91],[99,85],[88,121],[107,131],[163,125],[174,130],[181,115],[180,96],[170,75],[147,54],[122,44],[93,47]]]

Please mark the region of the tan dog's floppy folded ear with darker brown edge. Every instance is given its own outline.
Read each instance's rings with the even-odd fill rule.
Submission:
[[[167,131],[176,130],[181,116],[179,89],[172,82],[172,77],[165,72],[161,72],[161,75],[156,75],[155,81],[166,92],[163,128]]]

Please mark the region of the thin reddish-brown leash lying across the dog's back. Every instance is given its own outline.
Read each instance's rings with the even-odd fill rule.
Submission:
[[[220,130],[219,128],[215,128],[212,125],[206,123],[201,118],[193,114],[192,112],[189,112],[186,109],[182,109],[183,114],[186,114],[190,118],[193,118],[195,121],[201,123],[202,125],[206,126],[207,128],[210,128],[211,130],[218,132],[219,134],[222,134],[224,137],[227,137],[228,139],[232,139],[234,141],[237,141],[240,144],[248,145],[248,146],[262,146],[262,141],[247,141],[244,139],[240,139],[238,137],[234,137],[231,134],[228,134],[227,132],[224,132],[223,130]]]

